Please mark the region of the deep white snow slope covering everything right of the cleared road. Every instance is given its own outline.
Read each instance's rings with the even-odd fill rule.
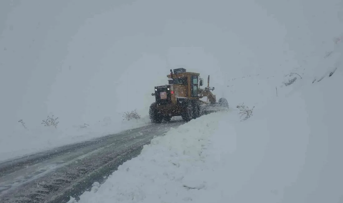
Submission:
[[[243,122],[232,106],[171,129],[78,202],[343,201],[342,47],[331,77],[291,77]]]

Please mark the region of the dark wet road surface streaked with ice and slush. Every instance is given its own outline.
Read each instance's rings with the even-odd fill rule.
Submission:
[[[0,202],[68,202],[104,182],[143,145],[182,120],[152,124],[0,163]]]

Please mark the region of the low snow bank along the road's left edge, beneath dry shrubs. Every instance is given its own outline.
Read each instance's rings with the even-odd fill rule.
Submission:
[[[25,129],[18,123],[12,132],[0,136],[0,161],[149,124],[151,124],[149,116],[130,121],[118,120],[117,117],[111,120],[111,117],[107,116],[94,124],[80,124],[66,128],[42,125],[34,128],[26,126]]]

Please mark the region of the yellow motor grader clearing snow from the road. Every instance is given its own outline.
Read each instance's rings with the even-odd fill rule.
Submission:
[[[203,114],[227,110],[228,102],[220,98],[216,102],[215,95],[211,92],[210,76],[208,76],[207,87],[203,86],[203,79],[199,73],[187,72],[184,68],[170,69],[167,75],[168,84],[156,86],[155,102],[150,105],[149,116],[153,123],[168,122],[173,116],[181,116],[186,122],[196,119]],[[201,99],[207,97],[207,101]]]

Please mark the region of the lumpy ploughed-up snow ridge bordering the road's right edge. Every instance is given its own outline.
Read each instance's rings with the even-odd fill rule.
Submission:
[[[208,180],[211,137],[220,129],[224,113],[203,116],[156,137],[142,153],[121,165],[95,193],[79,202],[182,202],[194,199]],[[210,168],[209,168],[210,167]],[[198,178],[197,178],[198,177]],[[202,177],[202,178],[199,178]],[[198,188],[196,190],[190,188]],[[192,192],[193,191],[193,192]],[[194,199],[195,200],[195,199]]]

